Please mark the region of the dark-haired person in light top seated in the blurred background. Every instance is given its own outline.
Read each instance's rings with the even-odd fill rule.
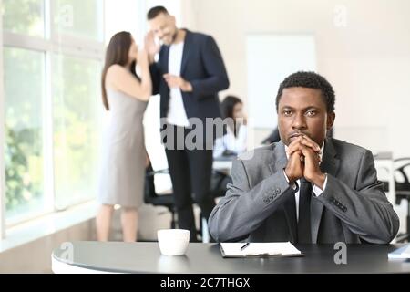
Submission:
[[[222,119],[231,118],[226,134],[215,141],[213,157],[236,156],[246,151],[246,116],[241,99],[227,96],[221,103]]]

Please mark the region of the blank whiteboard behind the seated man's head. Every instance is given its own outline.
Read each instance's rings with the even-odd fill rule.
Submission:
[[[316,47],[310,34],[251,34],[246,37],[249,118],[256,129],[277,126],[279,85],[290,74],[316,71]]]

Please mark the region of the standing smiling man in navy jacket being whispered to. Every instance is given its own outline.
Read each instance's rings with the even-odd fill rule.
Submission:
[[[149,10],[150,32],[146,36],[149,52],[153,94],[160,94],[161,133],[173,133],[163,138],[173,193],[177,206],[179,228],[190,230],[190,240],[196,241],[196,227],[191,193],[201,214],[208,220],[215,206],[210,197],[212,145],[214,135],[206,135],[206,119],[220,118],[218,92],[228,89],[229,79],[220,50],[211,36],[179,29],[175,17],[163,6]],[[154,36],[162,46],[156,45]],[[154,57],[159,53],[158,62]],[[202,134],[195,148],[185,141],[195,130],[192,120],[200,120]],[[177,135],[182,133],[182,135]]]

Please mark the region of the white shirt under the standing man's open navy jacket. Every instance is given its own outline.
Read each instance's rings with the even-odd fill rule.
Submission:
[[[180,66],[182,63],[182,53],[184,43],[173,44],[169,47],[168,72],[169,74],[180,76]],[[179,127],[190,126],[190,121],[185,111],[182,93],[179,88],[169,89],[169,110],[167,121],[171,125]]]

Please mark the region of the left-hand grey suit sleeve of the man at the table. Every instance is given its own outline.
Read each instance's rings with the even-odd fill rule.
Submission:
[[[238,241],[251,234],[282,205],[283,199],[294,195],[283,172],[273,173],[252,188],[241,160],[232,164],[232,183],[226,195],[212,210],[210,235],[218,242]]]

